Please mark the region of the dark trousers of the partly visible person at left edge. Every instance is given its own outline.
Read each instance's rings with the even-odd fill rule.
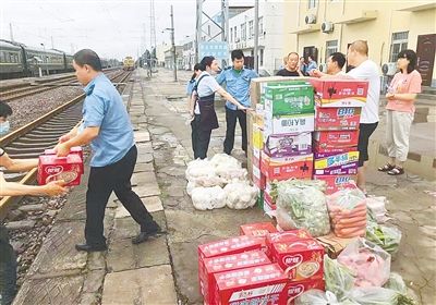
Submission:
[[[12,303],[16,293],[16,255],[7,228],[0,223],[0,305]]]

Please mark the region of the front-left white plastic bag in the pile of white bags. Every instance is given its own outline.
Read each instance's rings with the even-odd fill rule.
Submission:
[[[226,193],[219,186],[195,187],[192,190],[192,204],[199,210],[223,208],[226,206]]]

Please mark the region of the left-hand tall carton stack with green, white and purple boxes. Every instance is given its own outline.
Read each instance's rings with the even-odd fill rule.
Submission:
[[[270,182],[312,178],[314,91],[306,78],[258,78],[252,83],[251,97],[256,108],[252,117],[257,123],[252,126],[249,170],[252,167],[264,209],[270,211],[275,209]]]

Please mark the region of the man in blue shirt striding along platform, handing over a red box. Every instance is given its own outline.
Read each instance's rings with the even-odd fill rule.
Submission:
[[[86,252],[107,249],[104,218],[112,191],[141,225],[141,233],[132,243],[142,243],[157,234],[160,228],[132,191],[130,179],[137,149],[128,111],[113,84],[101,73],[96,52],[88,49],[76,52],[73,68],[78,82],[85,86],[83,123],[80,129],[61,136],[56,150],[59,157],[64,157],[71,147],[90,143],[94,152],[86,192],[86,243],[75,247]]]

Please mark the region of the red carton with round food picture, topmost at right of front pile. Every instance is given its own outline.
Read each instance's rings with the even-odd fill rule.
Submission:
[[[324,247],[316,240],[274,243],[271,256],[291,281],[324,277]]]

